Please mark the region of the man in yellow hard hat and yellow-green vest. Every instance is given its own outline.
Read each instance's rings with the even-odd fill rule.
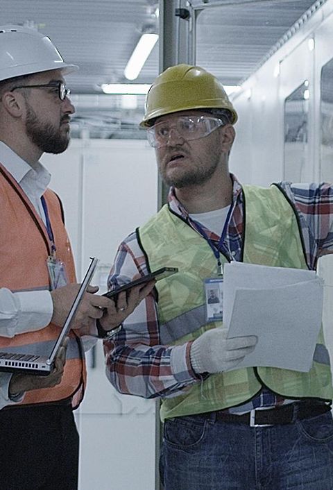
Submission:
[[[169,203],[122,242],[109,282],[164,266],[179,273],[157,282],[105,342],[107,375],[121,393],[161,398],[166,490],[330,490],[322,330],[309,372],[237,369],[257,337],[229,339],[208,299],[232,260],[314,270],[333,251],[333,188],[241,186],[228,169],[236,121],[221,83],[200,67],[170,67],[148,92],[142,126]]]

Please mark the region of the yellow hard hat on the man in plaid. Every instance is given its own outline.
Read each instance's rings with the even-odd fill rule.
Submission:
[[[157,76],[146,96],[140,126],[148,128],[156,117],[190,109],[228,109],[231,124],[237,121],[237,112],[219,80],[203,68],[182,64]]]

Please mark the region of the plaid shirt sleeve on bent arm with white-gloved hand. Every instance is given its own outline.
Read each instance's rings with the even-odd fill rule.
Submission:
[[[136,234],[119,246],[108,280],[109,289],[148,273],[146,259]],[[154,294],[149,294],[123,322],[123,328],[104,342],[106,375],[123,394],[144,398],[171,397],[198,382],[189,361],[191,342],[163,346]]]

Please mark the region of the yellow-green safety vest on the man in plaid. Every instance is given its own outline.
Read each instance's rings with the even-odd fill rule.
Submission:
[[[245,186],[244,194],[244,262],[307,269],[296,214],[280,189]],[[205,324],[203,279],[216,271],[216,260],[205,240],[167,205],[139,228],[138,234],[151,270],[163,266],[180,270],[156,284],[163,344],[184,344],[207,329],[221,326],[221,322]],[[323,331],[309,373],[258,367],[210,375],[184,394],[164,399],[161,416],[165,419],[240,405],[255,396],[262,385],[287,398],[331,399]]]

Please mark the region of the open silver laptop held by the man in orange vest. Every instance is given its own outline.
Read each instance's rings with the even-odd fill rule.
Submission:
[[[54,341],[49,357],[46,357],[45,355],[28,354],[26,352],[13,353],[0,351],[0,371],[37,375],[48,375],[51,373],[58,349],[69,332],[71,321],[74,319],[83,295],[85,294],[89,282],[92,280],[97,262],[99,262],[99,259],[96,257],[90,258],[92,262],[90,262],[87,272],[85,273],[85,277],[80,285],[80,289],[78,290],[74,303],[71,305],[71,309],[68,312],[64,326],[59,330],[58,339]],[[23,346],[23,348],[27,349],[28,346]]]

